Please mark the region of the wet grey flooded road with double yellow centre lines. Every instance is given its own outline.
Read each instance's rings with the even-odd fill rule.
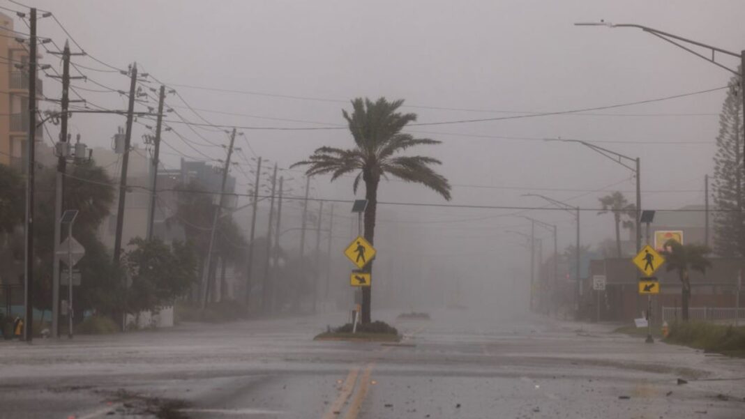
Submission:
[[[343,314],[1,343],[0,418],[745,418],[744,359],[603,325],[396,314],[377,316],[399,345],[311,340]]]

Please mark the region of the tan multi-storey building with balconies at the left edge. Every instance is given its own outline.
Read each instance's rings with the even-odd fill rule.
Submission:
[[[13,18],[0,13],[0,164],[22,170],[28,141],[28,45],[13,31]],[[37,80],[37,97],[43,97],[42,80]],[[37,142],[42,129],[37,129]]]

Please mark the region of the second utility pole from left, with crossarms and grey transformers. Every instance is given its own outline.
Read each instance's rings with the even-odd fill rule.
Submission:
[[[69,118],[69,88],[70,80],[82,79],[82,76],[70,77],[70,56],[84,55],[83,53],[70,53],[69,42],[65,41],[65,48],[62,53],[49,51],[49,54],[62,55],[62,76],[51,75],[49,77],[62,79],[62,99],[60,100],[60,141],[57,143],[57,173],[55,177],[55,194],[54,194],[54,260],[52,262],[52,300],[51,300],[51,337],[59,336],[60,321],[60,265],[61,260],[57,260],[57,252],[60,250],[60,240],[62,240],[62,227],[60,226],[60,217],[62,217],[62,208],[64,206],[65,194],[65,173],[67,170],[67,158],[70,156],[69,134],[67,133],[67,120]],[[73,102],[82,100],[72,100]]]

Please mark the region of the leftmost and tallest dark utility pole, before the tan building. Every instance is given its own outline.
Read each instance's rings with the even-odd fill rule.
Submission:
[[[26,144],[25,319],[23,339],[34,339],[34,165],[37,140],[37,9],[31,7],[28,57],[28,140]]]

